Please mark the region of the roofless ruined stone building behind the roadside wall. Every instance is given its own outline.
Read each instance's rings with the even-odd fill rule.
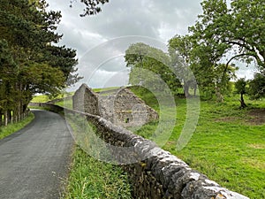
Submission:
[[[101,116],[118,126],[141,126],[158,119],[158,114],[127,88],[107,95],[82,84],[72,97],[73,109]]]

